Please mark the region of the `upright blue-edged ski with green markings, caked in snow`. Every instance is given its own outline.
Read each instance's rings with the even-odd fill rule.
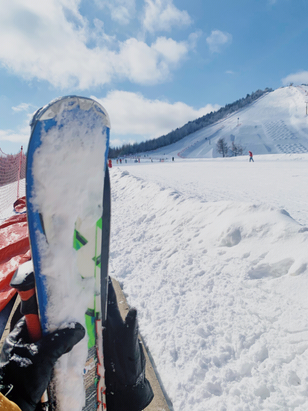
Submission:
[[[104,190],[109,117],[94,100],[68,96],[35,113],[31,126],[26,197],[42,332],[72,321],[87,330],[87,338],[56,364],[52,410],[102,410],[107,266],[101,258],[102,235],[109,236],[110,223],[108,183]]]

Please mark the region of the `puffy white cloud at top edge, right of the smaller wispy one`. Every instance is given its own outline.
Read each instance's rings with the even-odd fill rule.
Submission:
[[[179,10],[172,0],[145,0],[144,30],[154,33],[170,31],[171,27],[190,25],[192,19],[186,10]]]

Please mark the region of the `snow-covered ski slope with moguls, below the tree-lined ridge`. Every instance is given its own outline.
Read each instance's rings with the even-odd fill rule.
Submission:
[[[221,157],[218,139],[240,143],[244,153],[280,154],[308,152],[308,86],[288,86],[266,93],[214,125],[153,152],[183,158]],[[238,120],[239,119],[239,120]]]

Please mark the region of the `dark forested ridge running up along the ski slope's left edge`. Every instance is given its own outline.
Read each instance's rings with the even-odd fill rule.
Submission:
[[[188,136],[188,134],[211,125],[216,121],[226,117],[227,115],[234,113],[234,111],[242,109],[248,104],[254,102],[265,93],[271,91],[273,91],[272,88],[266,87],[264,90],[257,90],[255,92],[252,92],[250,95],[247,94],[246,97],[236,100],[233,103],[226,104],[225,107],[220,107],[219,110],[214,112],[211,111],[211,113],[203,115],[196,120],[189,121],[182,127],[172,130],[168,134],[160,136],[157,139],[146,140],[142,141],[141,143],[136,142],[134,144],[125,143],[122,145],[122,147],[110,147],[108,157],[115,158],[118,156],[134,154],[137,152],[156,150],[157,148],[164,147],[165,145],[175,143],[176,141],[183,139],[185,136]]]

